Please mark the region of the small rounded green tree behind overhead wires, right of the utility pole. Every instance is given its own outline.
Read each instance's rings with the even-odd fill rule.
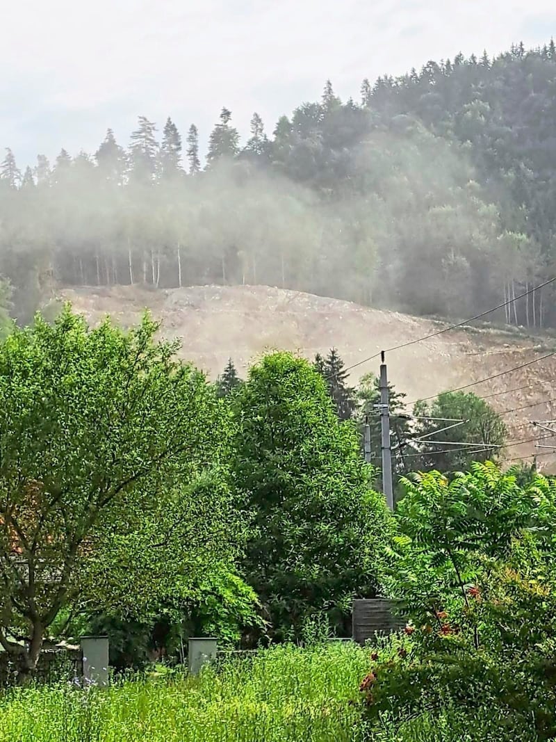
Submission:
[[[429,403],[417,402],[414,416],[421,419],[414,427],[413,450],[408,447],[412,470],[464,471],[471,462],[497,459],[506,442],[503,419],[472,392],[446,392]]]

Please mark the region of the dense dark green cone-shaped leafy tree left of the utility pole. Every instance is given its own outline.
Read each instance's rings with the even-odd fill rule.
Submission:
[[[357,432],[337,419],[322,376],[288,353],[252,367],[234,403],[233,482],[251,513],[245,574],[276,637],[326,611],[340,625],[353,597],[377,590],[388,533]]]

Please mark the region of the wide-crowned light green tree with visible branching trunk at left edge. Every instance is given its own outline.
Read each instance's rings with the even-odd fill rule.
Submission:
[[[22,678],[60,611],[175,605],[241,543],[221,406],[157,329],[66,306],[0,345],[0,646]]]

